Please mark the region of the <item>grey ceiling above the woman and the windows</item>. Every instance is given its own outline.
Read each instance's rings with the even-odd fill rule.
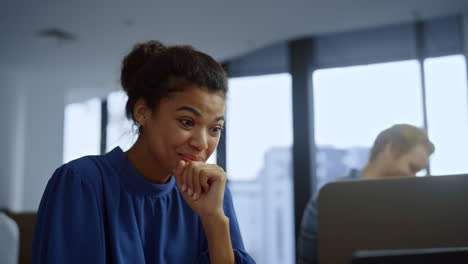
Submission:
[[[282,40],[453,14],[468,14],[468,0],[7,0],[0,68],[53,79],[76,101],[118,89],[121,60],[139,41],[227,60]]]

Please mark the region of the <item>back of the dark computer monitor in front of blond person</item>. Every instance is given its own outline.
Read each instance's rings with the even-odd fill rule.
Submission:
[[[320,264],[359,250],[468,246],[468,175],[339,181],[318,198]]]

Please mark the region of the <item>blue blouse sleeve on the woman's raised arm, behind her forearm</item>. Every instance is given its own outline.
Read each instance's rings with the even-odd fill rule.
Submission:
[[[224,192],[224,214],[229,218],[229,232],[231,233],[231,243],[234,250],[236,264],[254,264],[255,260],[245,251],[242,236],[237,223],[234,204],[232,203],[232,195],[229,188],[226,186]],[[210,263],[209,252],[204,252],[198,263]]]

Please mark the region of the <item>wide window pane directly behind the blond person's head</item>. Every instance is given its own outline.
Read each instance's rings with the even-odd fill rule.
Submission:
[[[382,130],[423,126],[415,60],[317,70],[313,82],[318,188],[362,169]]]

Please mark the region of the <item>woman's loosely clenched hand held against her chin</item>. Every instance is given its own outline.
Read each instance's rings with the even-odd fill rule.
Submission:
[[[224,217],[226,173],[221,167],[181,160],[174,174],[182,197],[202,219]]]

